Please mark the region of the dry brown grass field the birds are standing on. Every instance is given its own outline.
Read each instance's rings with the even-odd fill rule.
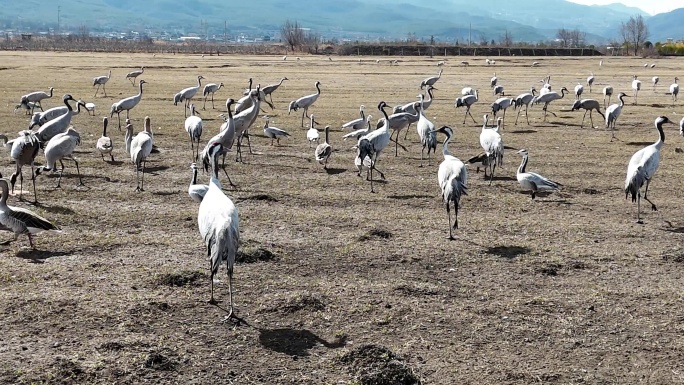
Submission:
[[[633,74],[644,87],[638,106],[626,99],[614,142],[600,117],[594,117],[600,128],[580,129],[583,112],[568,111],[573,95],[551,104],[558,117],[550,115],[547,123],[540,105],[530,108],[531,126],[514,126],[510,110],[505,144],[527,148],[528,169],[564,187],[535,201],[521,194],[515,179],[520,158],[507,150],[491,186],[470,169],[461,227],[449,241],[437,185],[442,156],[419,167],[415,126],[408,151],[394,157],[388,148],[380,157],[387,181],[376,184],[375,194],[357,177],[354,143],[342,141],[339,128],[358,116],[360,104],[377,119],[380,100],[391,106],[413,100],[419,82],[436,74],[443,58],[406,57],[397,66],[376,64],[374,57],[358,63],[355,57],[284,62],[281,56],[2,52],[0,58],[8,103],[0,109],[0,132],[14,136],[27,127],[28,117],[13,109],[29,91],[54,86],[45,107],[58,105],[67,92],[97,104],[96,117],[82,113],[72,121],[82,137],[76,157],[86,187],[77,187],[73,163],[65,161],[61,189],[54,188],[57,174],[38,178],[37,207],[9,198],[64,232],[39,234],[36,250],[25,236],[0,248],[0,383],[684,383],[684,154],[675,152],[684,142],[678,127],[666,126],[649,192],[659,211],[645,211],[645,224],[636,224],[636,206],[623,191],[630,156],[657,138],[654,119],[667,115],[678,122],[684,113],[682,102],[673,108],[665,95],[681,75],[678,59],[659,59],[647,69],[646,59],[604,58],[599,67],[599,58],[502,57],[486,66],[484,58],[468,57],[471,66],[464,69],[462,58],[450,58],[427,115],[438,127],[454,128],[450,149],[461,159],[480,151],[494,72],[510,95],[539,89],[547,74],[554,90],[572,91],[590,71],[596,82],[585,97],[602,100],[607,84],[615,95],[631,95]],[[534,60],[541,66],[532,68]],[[95,150],[101,117],[114,101],[137,93],[124,76],[141,65],[149,84],[131,118],[138,132],[151,117],[160,150],[147,163],[151,174],[142,193],[134,191],[116,117],[109,130],[116,162],[103,162]],[[93,99],[92,77],[110,68],[109,96]],[[238,188],[225,191],[240,211],[247,259],[235,270],[236,309],[245,321],[239,326],[224,323],[223,310],[206,302],[198,205],[186,192],[190,146],[172,96],[199,74],[226,85],[216,94],[217,110],[201,111],[202,145],[217,132],[225,99],[237,99],[249,77],[262,85],[290,79],[274,94],[276,110],[267,112],[271,125],[293,138],[271,147],[258,119],[251,130],[255,153],[228,166]],[[661,82],[655,92],[654,75]],[[336,150],[328,172],[313,161],[300,115],[286,113],[290,100],[315,91],[316,80],[322,96],[310,111],[321,128],[333,128]],[[473,108],[477,124],[461,124],[464,110],[453,106],[464,86],[481,91]],[[9,178],[14,165],[3,159],[0,171]],[[43,159],[40,154],[38,162]],[[25,179],[24,198],[32,200]],[[217,278],[225,307],[225,268]],[[381,368],[388,356],[358,350],[368,344],[385,346],[399,359]],[[371,364],[385,380],[371,378]],[[401,370],[403,382],[387,379]]]

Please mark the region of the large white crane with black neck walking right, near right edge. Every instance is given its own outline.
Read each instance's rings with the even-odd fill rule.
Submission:
[[[650,146],[646,146],[632,155],[627,165],[627,178],[625,179],[625,199],[631,194],[632,202],[637,203],[637,223],[641,221],[641,187],[646,183],[644,199],[651,204],[651,210],[657,211],[655,203],[648,199],[648,186],[660,164],[660,149],[665,142],[663,124],[672,123],[667,116],[659,116],[655,120],[658,129],[658,140]]]

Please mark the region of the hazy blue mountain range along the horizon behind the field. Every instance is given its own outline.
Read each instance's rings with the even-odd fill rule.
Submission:
[[[228,33],[276,34],[286,20],[297,20],[324,37],[418,38],[498,41],[508,31],[514,41],[554,39],[559,28],[579,29],[588,42],[618,36],[630,16],[647,19],[653,41],[684,38],[678,9],[648,17],[622,4],[586,6],[564,0],[0,0],[0,25],[60,30],[167,30],[174,33],[223,36]],[[27,11],[28,10],[28,11]]]

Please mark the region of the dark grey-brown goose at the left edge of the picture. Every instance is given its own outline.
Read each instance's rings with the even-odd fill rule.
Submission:
[[[0,189],[2,189],[2,197],[0,197],[0,230],[14,233],[14,239],[3,242],[1,243],[2,245],[9,245],[11,242],[16,241],[19,235],[26,234],[31,248],[34,249],[34,234],[42,231],[60,231],[59,227],[31,210],[8,206],[9,187],[7,186],[6,179],[0,179]]]

